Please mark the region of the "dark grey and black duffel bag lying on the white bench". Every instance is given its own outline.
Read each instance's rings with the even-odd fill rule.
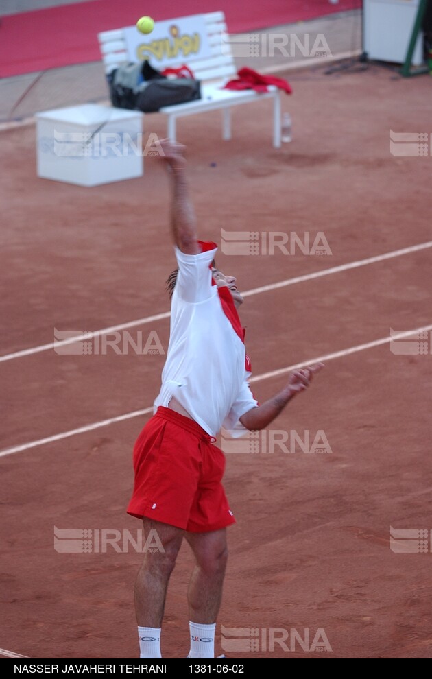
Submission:
[[[201,82],[195,78],[168,78],[148,61],[129,63],[107,75],[112,106],[145,113],[163,106],[201,99]]]

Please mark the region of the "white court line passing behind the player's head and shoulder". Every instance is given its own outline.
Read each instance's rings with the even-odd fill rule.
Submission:
[[[280,287],[287,287],[287,285],[296,285],[296,283],[303,283],[304,281],[313,281],[314,278],[321,278],[322,276],[338,274],[341,271],[357,269],[358,267],[361,266],[367,266],[369,264],[374,264],[376,262],[385,261],[386,259],[393,259],[394,257],[402,257],[402,255],[404,254],[411,254],[412,252],[418,252],[418,250],[426,250],[427,248],[432,248],[432,241],[427,241],[427,243],[419,243],[416,246],[409,246],[409,248],[402,248],[401,250],[393,250],[392,252],[386,252],[385,254],[378,254],[376,255],[376,257],[368,257],[368,259],[359,259],[358,261],[350,262],[348,264],[333,266],[330,269],[315,271],[312,274],[304,274],[304,276],[296,276],[296,278],[287,278],[285,281],[280,281],[279,283],[271,283],[270,285],[255,287],[252,290],[247,290],[243,292],[242,296],[251,297],[252,295],[258,295],[261,292],[269,292],[271,290],[277,290]],[[12,359],[37,354],[40,353],[41,351],[47,351],[49,349],[64,346],[65,344],[73,344],[73,342],[83,342],[86,339],[91,339],[92,337],[97,337],[99,335],[106,335],[108,333],[114,333],[119,330],[125,330],[126,328],[133,328],[134,326],[137,325],[152,323],[153,321],[156,320],[169,318],[170,315],[171,313],[169,311],[165,311],[164,313],[156,313],[156,315],[147,316],[146,318],[139,318],[128,323],[113,325],[110,328],[103,328],[101,330],[96,330],[94,332],[86,333],[84,335],[77,335],[77,337],[71,337],[70,339],[62,339],[60,340],[60,342],[49,342],[48,344],[40,344],[40,346],[34,346],[29,349],[23,349],[21,351],[16,351],[12,354],[5,354],[3,356],[0,356],[0,363],[2,363],[3,361],[12,361]]]

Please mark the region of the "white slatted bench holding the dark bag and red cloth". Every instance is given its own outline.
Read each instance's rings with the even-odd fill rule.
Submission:
[[[186,104],[175,104],[174,106],[160,108],[158,112],[167,116],[167,137],[176,141],[178,118],[220,109],[222,112],[222,139],[231,139],[231,107],[261,101],[261,99],[271,99],[273,102],[273,146],[280,148],[280,90],[273,85],[269,86],[268,91],[263,93],[256,92],[253,89],[242,91],[221,89],[221,86],[226,84],[228,80],[237,78],[237,69],[227,38],[225,15],[224,12],[210,12],[199,16],[203,16],[205,19],[211,57],[198,59],[182,56],[177,62],[173,61],[172,66],[180,67],[184,63],[189,66],[195,78],[201,81],[201,99]],[[179,17],[179,19],[184,18]],[[193,19],[193,16],[187,18]],[[175,23],[175,21],[176,19],[172,19],[172,23]],[[107,75],[121,64],[130,61],[124,31],[125,29],[106,31],[97,36]],[[223,40],[224,49],[222,49]],[[158,68],[151,58],[150,63]]]

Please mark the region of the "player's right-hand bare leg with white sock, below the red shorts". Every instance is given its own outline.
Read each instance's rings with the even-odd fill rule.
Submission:
[[[196,562],[188,589],[191,632],[189,657],[214,658],[216,619],[228,560],[226,529],[210,533],[187,532],[185,537]]]

